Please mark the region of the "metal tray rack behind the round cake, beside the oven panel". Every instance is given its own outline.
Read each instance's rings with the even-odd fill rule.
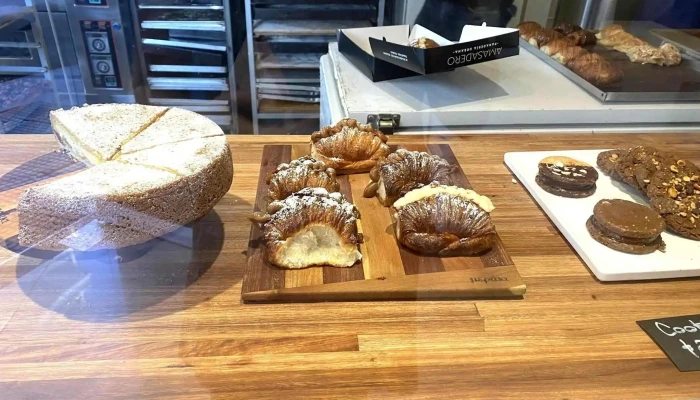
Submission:
[[[132,0],[132,9],[147,102],[198,112],[237,133],[230,1]]]

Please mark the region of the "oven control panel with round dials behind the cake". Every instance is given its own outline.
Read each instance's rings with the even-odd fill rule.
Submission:
[[[80,28],[90,65],[92,85],[96,88],[120,89],[122,83],[114,52],[112,24],[109,21],[80,21]]]

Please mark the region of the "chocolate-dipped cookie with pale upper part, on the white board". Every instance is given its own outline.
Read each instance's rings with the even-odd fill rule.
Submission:
[[[562,197],[581,198],[595,193],[598,171],[583,161],[553,156],[540,161],[535,177],[537,184],[549,193]]]

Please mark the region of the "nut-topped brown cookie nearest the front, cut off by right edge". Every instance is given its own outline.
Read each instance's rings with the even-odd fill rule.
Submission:
[[[649,181],[647,194],[671,230],[700,240],[700,168],[683,159],[663,163]]]

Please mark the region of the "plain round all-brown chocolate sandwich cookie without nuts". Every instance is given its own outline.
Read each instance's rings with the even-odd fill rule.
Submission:
[[[597,242],[631,254],[663,251],[664,219],[654,210],[627,200],[601,200],[593,208],[586,228]]]

